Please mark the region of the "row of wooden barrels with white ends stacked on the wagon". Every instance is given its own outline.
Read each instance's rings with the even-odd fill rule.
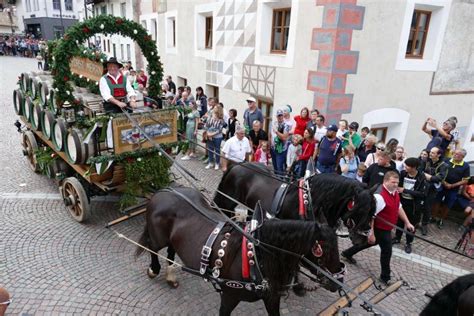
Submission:
[[[85,88],[75,87],[73,96],[82,104],[101,100],[100,96]],[[62,117],[61,106],[55,99],[51,73],[22,73],[19,88],[13,91],[13,105],[17,115],[31,126],[36,133],[52,143],[56,151],[65,152],[72,164],[86,164],[89,157],[97,154],[96,138],[85,144],[87,130],[68,124]]]

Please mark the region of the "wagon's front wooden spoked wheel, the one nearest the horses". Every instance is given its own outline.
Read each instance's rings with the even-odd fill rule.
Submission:
[[[69,177],[64,180],[61,195],[69,213],[76,221],[81,223],[89,217],[89,199],[77,178]]]

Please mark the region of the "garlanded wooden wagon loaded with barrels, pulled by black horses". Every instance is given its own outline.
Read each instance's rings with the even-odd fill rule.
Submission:
[[[160,151],[177,142],[172,108],[142,107],[127,115],[104,110],[98,85],[106,56],[81,43],[95,33],[115,33],[117,25],[142,48],[150,95],[159,96],[162,68],[156,46],[139,24],[115,17],[71,27],[48,48],[52,70],[22,73],[13,91],[19,116],[15,125],[30,168],[57,182],[67,209],[79,222],[90,215],[93,196],[121,192],[125,208],[137,196],[167,185],[171,163]],[[146,141],[144,132],[161,144],[159,150]]]

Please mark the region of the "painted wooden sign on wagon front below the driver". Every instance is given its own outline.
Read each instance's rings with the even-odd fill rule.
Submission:
[[[159,144],[177,141],[177,113],[175,110],[157,110],[131,115],[153,141]],[[138,128],[133,127],[125,115],[112,120],[112,130],[115,154],[153,147],[153,144]]]

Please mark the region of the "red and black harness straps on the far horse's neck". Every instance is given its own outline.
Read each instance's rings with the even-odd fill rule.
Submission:
[[[303,178],[298,180],[298,215],[303,220],[315,220],[315,215],[313,212],[313,201],[311,199],[311,187],[309,184],[310,178]],[[272,216],[277,216],[281,211],[283,201],[286,198],[288,193],[289,185],[287,183],[282,183],[278,190],[275,193],[275,196],[272,200],[272,206],[270,214]],[[308,212],[309,209],[309,212]]]

